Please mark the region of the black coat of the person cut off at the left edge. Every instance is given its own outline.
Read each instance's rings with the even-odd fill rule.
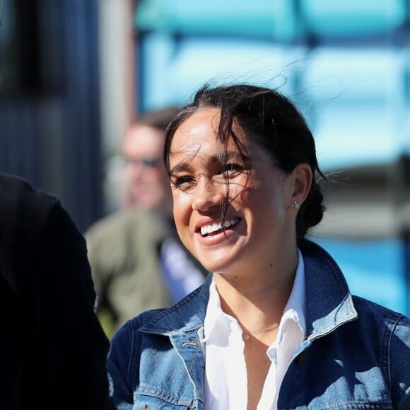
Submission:
[[[59,200],[0,173],[0,409],[112,409],[86,242]]]

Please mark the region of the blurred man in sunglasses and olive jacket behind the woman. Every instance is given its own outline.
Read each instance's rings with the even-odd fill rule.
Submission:
[[[86,232],[88,257],[108,336],[139,312],[167,307],[206,276],[177,237],[170,180],[163,164],[165,128],[175,107],[146,112],[122,143],[127,160],[126,209]]]

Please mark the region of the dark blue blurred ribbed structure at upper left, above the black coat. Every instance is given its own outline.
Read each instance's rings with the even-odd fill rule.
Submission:
[[[101,216],[98,0],[8,0],[0,32],[0,170]]]

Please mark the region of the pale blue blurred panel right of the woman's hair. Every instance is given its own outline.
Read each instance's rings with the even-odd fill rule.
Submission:
[[[315,49],[306,59],[307,118],[322,167],[388,163],[406,145],[404,62],[397,49]]]

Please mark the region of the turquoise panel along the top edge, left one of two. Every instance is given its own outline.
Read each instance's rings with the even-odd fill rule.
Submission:
[[[183,35],[237,35],[291,40],[298,25],[289,0],[147,0],[136,9],[136,27]]]

